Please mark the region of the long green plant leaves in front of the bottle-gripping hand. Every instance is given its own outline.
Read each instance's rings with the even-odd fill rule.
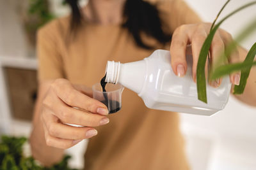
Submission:
[[[218,13],[216,19],[214,20],[211,30],[207,36],[207,38],[204,41],[204,44],[200,50],[200,55],[198,58],[198,65],[196,67],[196,87],[198,92],[198,99],[200,101],[203,101],[204,103],[207,103],[207,94],[206,94],[206,80],[205,80],[205,62],[207,60],[207,56],[209,53],[209,49],[211,47],[212,39],[214,38],[214,34],[220,27],[220,25],[227,20],[227,18],[231,17],[238,11],[243,10],[244,8],[248,8],[249,6],[252,6],[256,4],[256,1],[252,1],[251,3],[244,4],[244,6],[241,6],[240,8],[237,8],[236,10],[232,11],[232,13],[228,14],[226,17],[224,17],[218,24],[215,25],[216,20],[220,16],[221,11],[227,6],[227,4],[230,2],[228,0],[224,6],[221,8],[220,12]],[[250,25],[248,28],[245,29],[245,31],[252,32],[253,29],[255,29],[256,21],[253,22],[252,25]],[[238,40],[243,39],[246,35],[248,35],[248,32],[243,32],[238,38]],[[236,48],[236,41],[230,43],[230,45],[227,48],[227,52],[223,55],[221,55],[221,58],[225,57],[226,55],[230,55],[232,53],[232,50]],[[214,80],[216,78],[220,78],[221,76],[225,76],[227,74],[233,73],[234,71],[241,71],[241,80],[240,84],[236,85],[234,88],[234,94],[242,94],[244,91],[244,87],[246,85],[247,78],[250,73],[250,69],[253,65],[255,65],[255,62],[253,62],[253,59],[256,54],[256,45],[253,45],[250,51],[248,52],[248,55],[246,56],[246,59],[244,62],[236,63],[236,64],[227,64],[224,66],[217,66],[214,68],[214,70],[211,69],[210,71],[210,80]],[[218,62],[217,62],[218,63]]]

